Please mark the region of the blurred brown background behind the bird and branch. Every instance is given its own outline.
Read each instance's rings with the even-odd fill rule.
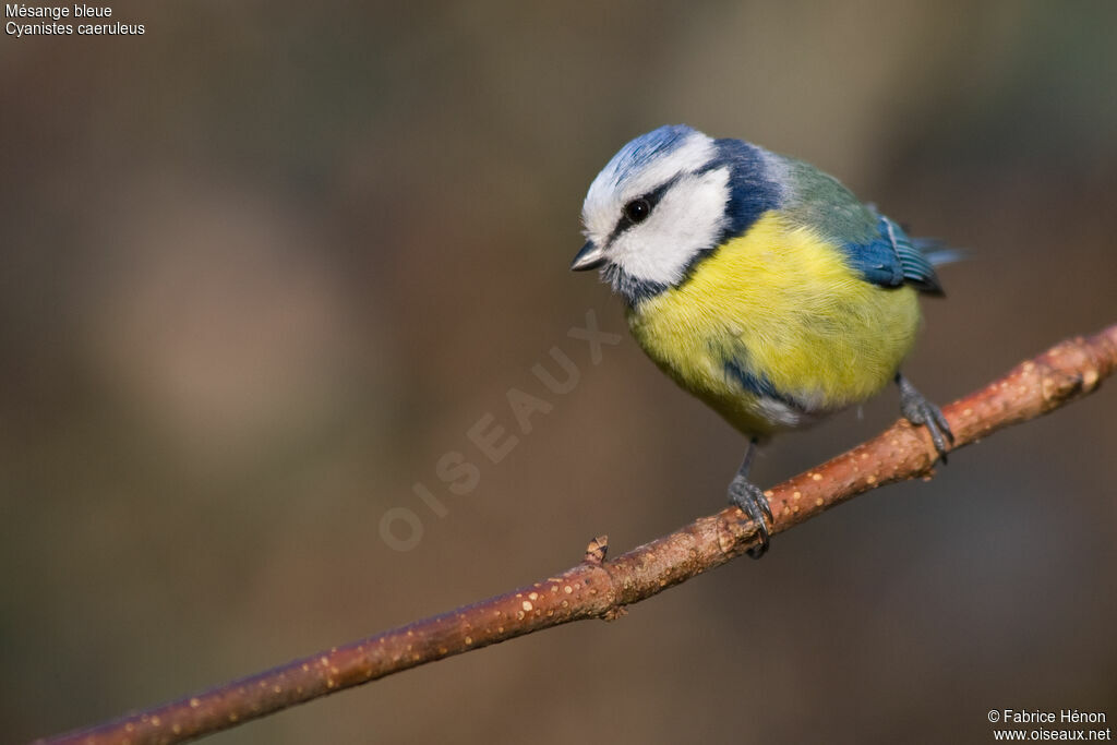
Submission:
[[[686,122],[972,259],[909,376],[946,402],[1117,321],[1114,3],[116,2],[0,38],[0,732],[185,695],[632,547],[743,441],[571,275],[591,179]],[[6,19],[7,20],[7,19]],[[532,376],[580,366],[571,393]],[[553,403],[510,455],[505,394]],[[1117,717],[1117,385],[638,605],[213,743],[992,742]],[[777,439],[798,472],[894,391]],[[451,494],[460,451],[479,486]],[[422,483],[448,514],[412,490]],[[381,537],[392,507],[423,533]],[[400,529],[397,526],[397,529]],[[403,531],[401,529],[401,533]]]

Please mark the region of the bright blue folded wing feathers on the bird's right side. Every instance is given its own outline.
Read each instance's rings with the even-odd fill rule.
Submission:
[[[884,216],[877,217],[877,236],[868,242],[846,243],[842,250],[866,280],[881,287],[908,284],[929,295],[943,295],[935,267],[924,252],[935,241],[908,238],[904,229]]]

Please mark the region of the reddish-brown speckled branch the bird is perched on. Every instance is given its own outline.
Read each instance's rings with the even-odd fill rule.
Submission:
[[[955,448],[1057,409],[1097,389],[1117,369],[1117,325],[1063,342],[999,381],[946,407]],[[767,491],[781,533],[850,497],[930,474],[926,431],[901,420],[872,440]],[[288,662],[171,704],[50,743],[175,743],[309,701],[432,660],[582,619],[613,619],[650,598],[745,553],[756,528],[727,508],[604,561],[605,539],[562,574],[363,641]]]

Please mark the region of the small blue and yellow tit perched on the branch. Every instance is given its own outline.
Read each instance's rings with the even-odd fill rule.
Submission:
[[[571,269],[599,269],[648,356],[747,438],[728,502],[756,525],[752,556],[773,517],[748,475],[777,432],[895,382],[945,462],[951,427],[900,365],[918,295],[944,295],[935,266],[958,251],[909,238],[806,162],[685,124],[621,147],[590,184],[582,225]]]

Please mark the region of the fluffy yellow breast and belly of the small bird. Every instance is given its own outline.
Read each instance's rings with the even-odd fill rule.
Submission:
[[[726,371],[733,361],[805,414],[877,393],[910,351],[916,292],[862,280],[809,229],[763,216],[690,277],[629,312],[632,334],[676,382],[748,434],[800,423]]]

